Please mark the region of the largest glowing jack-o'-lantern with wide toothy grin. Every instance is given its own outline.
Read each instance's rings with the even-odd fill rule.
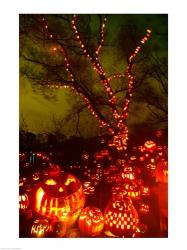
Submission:
[[[46,178],[37,185],[34,209],[44,217],[72,225],[84,204],[82,185],[71,174]]]

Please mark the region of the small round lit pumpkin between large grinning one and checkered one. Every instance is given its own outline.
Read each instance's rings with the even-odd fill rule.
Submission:
[[[79,217],[79,229],[87,236],[99,235],[104,227],[104,217],[100,209],[96,207],[86,207]]]

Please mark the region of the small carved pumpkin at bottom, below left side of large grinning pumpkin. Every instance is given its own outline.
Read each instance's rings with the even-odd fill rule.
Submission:
[[[31,228],[31,236],[36,238],[42,238],[49,232],[50,226],[48,220],[35,220]]]

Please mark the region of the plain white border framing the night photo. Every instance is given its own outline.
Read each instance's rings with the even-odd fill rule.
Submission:
[[[171,0],[7,0],[1,8],[1,205],[0,249],[175,249],[186,237],[186,6]],[[169,238],[168,239],[19,239],[18,117],[19,13],[169,14]],[[183,167],[183,168],[182,168]],[[17,189],[16,189],[17,187]],[[102,244],[102,245],[101,245]]]

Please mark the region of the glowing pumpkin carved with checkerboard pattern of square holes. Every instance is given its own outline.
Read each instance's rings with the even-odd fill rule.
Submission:
[[[105,230],[119,237],[132,237],[139,223],[138,213],[128,196],[121,200],[112,199],[104,218]]]

